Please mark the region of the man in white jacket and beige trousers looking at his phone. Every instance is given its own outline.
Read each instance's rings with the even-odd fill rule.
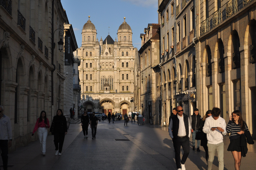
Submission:
[[[224,169],[224,143],[223,136],[226,135],[226,122],[220,117],[221,110],[219,108],[212,109],[212,116],[206,118],[203,132],[207,134],[207,146],[209,158],[207,160],[208,170],[212,170],[212,162],[214,160],[215,151],[218,153],[219,170]]]

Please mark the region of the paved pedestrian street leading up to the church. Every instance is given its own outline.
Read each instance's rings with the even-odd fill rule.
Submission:
[[[96,139],[84,139],[80,124],[71,124],[65,136],[62,156],[55,156],[53,135],[47,137],[46,156],[40,155],[39,141],[28,146],[19,147],[9,154],[9,170],[76,170],[76,169],[114,169],[114,170],[165,170],[176,169],[172,140],[168,129],[154,125],[139,125],[123,120],[108,124],[98,123]],[[115,140],[129,139],[129,141]],[[234,169],[231,152],[226,151],[229,139],[224,137],[225,170]],[[190,138],[190,154],[185,163],[187,170],[205,170],[206,160],[203,147],[201,152],[192,150]],[[242,158],[241,169],[256,167],[256,144],[248,145],[248,153]],[[252,161],[253,160],[253,161]],[[215,157],[213,169],[217,170],[218,161]],[[2,161],[1,161],[2,165]]]

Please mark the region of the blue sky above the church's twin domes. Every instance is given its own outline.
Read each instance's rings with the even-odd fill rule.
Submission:
[[[109,35],[115,41],[117,30],[125,21],[132,29],[133,46],[141,47],[140,34],[148,24],[158,23],[157,0],[61,0],[69,24],[72,24],[78,48],[82,44],[82,29],[90,16],[97,38],[104,41]],[[110,28],[108,28],[110,27]]]

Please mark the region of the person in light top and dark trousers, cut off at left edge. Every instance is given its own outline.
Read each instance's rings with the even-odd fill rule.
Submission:
[[[8,141],[9,140],[9,141]],[[3,168],[7,170],[8,147],[12,146],[12,124],[8,116],[4,115],[4,107],[0,105],[0,148]]]

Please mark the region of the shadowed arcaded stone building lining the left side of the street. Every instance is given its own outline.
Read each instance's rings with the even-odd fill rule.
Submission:
[[[35,140],[31,133],[42,110],[51,124],[63,109],[64,60],[57,43],[63,40],[63,23],[68,19],[60,0],[53,6],[34,0],[0,3],[0,104],[12,123],[11,150]]]

